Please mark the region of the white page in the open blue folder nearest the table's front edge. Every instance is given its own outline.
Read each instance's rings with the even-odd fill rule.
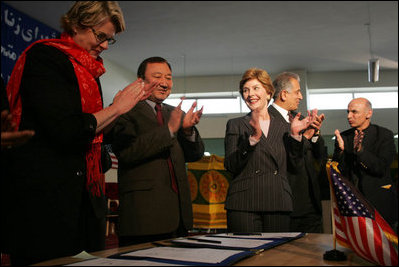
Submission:
[[[207,264],[218,264],[230,261],[230,258],[250,255],[246,251],[239,250],[224,250],[224,249],[210,249],[210,248],[182,248],[182,247],[154,247],[149,249],[137,250],[129,253],[121,254],[120,257],[144,257],[166,259],[170,261],[181,262],[197,262]],[[241,258],[241,257],[239,257]]]

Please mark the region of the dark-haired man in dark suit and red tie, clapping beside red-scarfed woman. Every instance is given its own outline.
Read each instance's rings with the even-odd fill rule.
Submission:
[[[121,116],[113,129],[118,161],[119,243],[121,246],[187,235],[192,206],[185,162],[199,160],[204,144],[195,125],[202,109],[187,114],[181,103],[162,102],[173,82],[169,63],[144,60],[137,71],[144,83],[160,82],[152,95]]]

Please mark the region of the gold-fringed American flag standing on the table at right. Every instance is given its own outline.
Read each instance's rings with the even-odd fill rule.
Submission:
[[[337,165],[337,162],[327,163],[333,191],[336,240],[370,262],[397,266],[397,235],[378,211],[339,173]]]

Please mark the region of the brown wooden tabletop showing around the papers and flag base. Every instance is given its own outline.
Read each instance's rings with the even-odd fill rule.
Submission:
[[[168,244],[167,241],[162,241]],[[132,245],[121,248],[108,249],[90,253],[98,257],[108,257],[113,254],[153,247],[151,243]],[[235,266],[374,266],[374,264],[360,258],[352,250],[337,245],[337,249],[345,252],[345,261],[326,261],[323,255],[333,249],[331,234],[306,234],[304,237],[263,251],[255,256],[243,259]],[[37,265],[65,265],[79,262],[81,259],[72,257],[59,258],[41,262]]]

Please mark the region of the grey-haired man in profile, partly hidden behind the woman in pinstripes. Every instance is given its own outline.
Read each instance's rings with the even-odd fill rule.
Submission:
[[[283,72],[273,81],[276,90],[269,113],[278,118],[289,131],[290,116],[302,100],[300,78],[296,73]],[[290,230],[294,232],[322,232],[322,193],[328,192],[325,173],[326,152],[320,127],[324,114],[317,116],[316,124],[303,132],[303,158],[297,163],[296,173],[288,171],[293,195]]]

